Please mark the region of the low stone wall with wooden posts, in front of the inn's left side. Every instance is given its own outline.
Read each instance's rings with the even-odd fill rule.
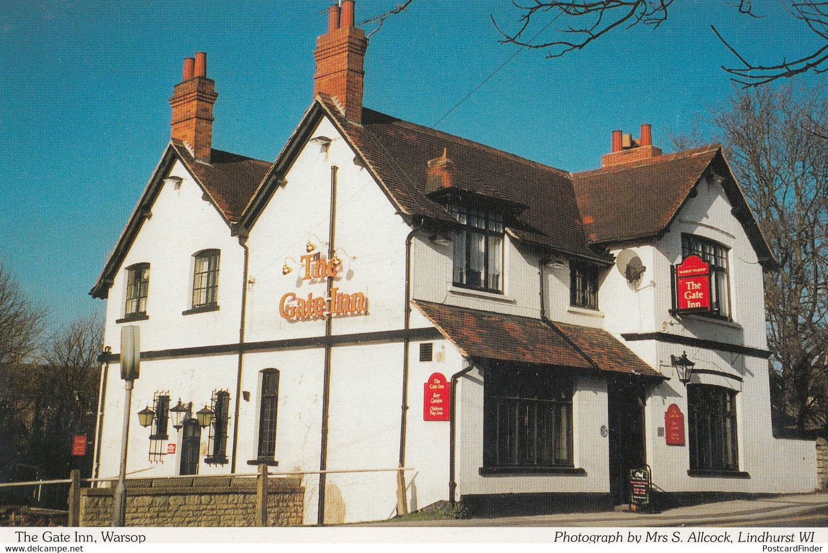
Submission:
[[[80,526],[108,527],[113,488],[80,496]],[[267,478],[267,525],[300,525],[300,478]],[[128,527],[249,527],[256,514],[256,478],[143,478],[127,482]]]

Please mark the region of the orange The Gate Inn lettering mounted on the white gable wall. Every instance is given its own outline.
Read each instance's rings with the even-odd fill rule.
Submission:
[[[320,252],[300,257],[304,273],[303,281],[315,281],[323,278],[334,279],[339,275],[342,262],[339,257],[328,260]],[[333,315],[368,315],[368,298],[362,292],[345,294],[339,288],[330,286],[328,296],[314,296],[310,292],[306,297],[298,297],[287,292],[279,301],[279,314],[287,320],[324,319]]]

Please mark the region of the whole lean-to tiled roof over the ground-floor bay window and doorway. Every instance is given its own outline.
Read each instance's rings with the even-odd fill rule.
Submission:
[[[465,357],[660,376],[603,329],[549,325],[532,317],[431,301],[412,303]]]

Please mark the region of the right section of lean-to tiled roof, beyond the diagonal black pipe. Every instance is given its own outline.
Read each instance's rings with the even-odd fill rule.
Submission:
[[[654,370],[619,339],[604,329],[595,329],[590,326],[566,325],[555,321],[556,326],[566,338],[575,344],[589,357],[602,371],[615,373],[633,373],[643,376],[661,377],[661,373]]]

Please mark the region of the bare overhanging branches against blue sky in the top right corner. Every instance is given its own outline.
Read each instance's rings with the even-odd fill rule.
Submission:
[[[581,50],[590,42],[599,39],[614,29],[626,29],[637,25],[647,25],[656,28],[667,21],[669,9],[676,0],[524,0],[519,3],[513,0],[514,6],[521,14],[517,31],[503,31],[503,26],[494,22],[498,31],[503,35],[502,42],[517,44],[527,48],[541,48],[549,50],[546,57],[558,57],[573,50]],[[720,0],[728,6],[734,7],[734,13],[741,17],[763,17],[753,11],[750,0],[728,2]],[[710,26],[715,35],[720,38],[724,46],[733,52],[740,66],[724,66],[737,83],[744,87],[754,87],[767,84],[773,80],[789,78],[794,75],[814,71],[821,73],[828,70],[828,2],[821,0],[782,0],[787,12],[797,18],[808,31],[818,38],[818,45],[814,50],[796,55],[788,60],[782,57],[781,61],[755,65],[747,61],[730,43],[726,37]],[[686,3],[686,2],[685,2]],[[701,6],[701,4],[700,4]],[[561,36],[551,41],[533,43],[540,34],[527,38],[531,30],[537,28],[547,20],[555,21],[564,17],[557,31]],[[546,28],[546,27],[543,27]]]

